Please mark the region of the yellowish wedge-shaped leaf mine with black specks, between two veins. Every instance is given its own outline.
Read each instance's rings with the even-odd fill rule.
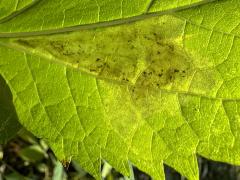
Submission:
[[[122,26],[13,39],[28,50],[102,79],[135,87],[183,90],[194,72],[190,56],[163,37],[158,18]]]

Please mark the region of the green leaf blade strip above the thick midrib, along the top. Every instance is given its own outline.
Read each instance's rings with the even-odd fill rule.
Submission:
[[[17,1],[17,0],[15,0]],[[14,0],[10,2],[15,2]],[[26,0],[27,1],[27,0]],[[9,35],[12,32],[53,32],[76,29],[78,25],[89,25],[99,22],[121,23],[122,19],[131,21],[144,18],[146,14],[164,13],[174,9],[188,8],[197,4],[207,3],[213,0],[48,0],[35,3],[31,8],[17,14],[14,18],[0,24],[2,35]],[[5,1],[4,1],[5,2]],[[9,3],[4,3],[0,7],[8,8]],[[54,10],[54,15],[53,15]],[[131,19],[127,19],[131,18]],[[111,24],[111,23],[110,23]],[[6,34],[5,34],[6,33]]]

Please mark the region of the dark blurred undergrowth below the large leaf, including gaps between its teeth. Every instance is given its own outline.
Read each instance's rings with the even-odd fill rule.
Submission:
[[[201,180],[240,180],[240,167],[209,161],[199,157]],[[0,180],[91,180],[81,167],[72,161],[70,164],[57,161],[48,145],[22,130],[19,135],[5,145],[0,145]],[[133,167],[136,180],[150,180],[150,176]],[[165,166],[166,180],[185,180],[172,168]],[[106,180],[126,180],[109,164],[103,163],[102,176]]]

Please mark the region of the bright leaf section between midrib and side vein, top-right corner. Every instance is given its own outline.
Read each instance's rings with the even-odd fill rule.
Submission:
[[[189,24],[201,26],[209,31],[239,35],[239,7],[240,3],[237,0],[220,0],[212,6],[206,4],[177,14],[186,19]]]

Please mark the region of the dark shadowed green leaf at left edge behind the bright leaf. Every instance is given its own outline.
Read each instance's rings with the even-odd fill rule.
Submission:
[[[11,91],[0,75],[0,144],[14,137],[20,128]]]

